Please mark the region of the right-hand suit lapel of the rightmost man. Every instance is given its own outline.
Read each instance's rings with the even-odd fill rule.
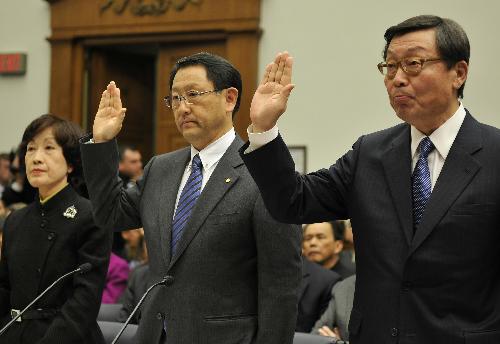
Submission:
[[[409,254],[413,253],[429,236],[479,171],[481,165],[474,159],[473,153],[481,148],[481,128],[479,123],[467,112],[426,205],[422,222],[415,233]]]

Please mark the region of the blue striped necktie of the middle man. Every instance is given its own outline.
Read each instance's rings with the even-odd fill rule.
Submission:
[[[201,193],[201,181],[203,179],[202,174],[203,165],[201,163],[200,156],[196,154],[191,162],[191,174],[182,189],[181,196],[179,197],[179,202],[177,203],[177,209],[175,209],[174,219],[172,221],[172,241],[171,241],[171,252],[172,256],[175,253],[177,243],[182,236],[182,230],[189,220],[189,215],[193,211],[196,201]]]

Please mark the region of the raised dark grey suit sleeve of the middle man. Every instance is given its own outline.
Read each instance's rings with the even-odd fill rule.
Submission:
[[[83,139],[82,139],[83,140]],[[116,140],[80,144],[85,181],[97,225],[115,231],[142,227],[139,214],[141,190],[147,180],[151,160],[137,185],[124,189],[118,177]]]

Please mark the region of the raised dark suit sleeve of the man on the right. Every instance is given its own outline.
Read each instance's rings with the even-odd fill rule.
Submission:
[[[271,215],[287,223],[314,223],[349,218],[348,193],[355,174],[360,138],[353,150],[329,169],[300,175],[281,136],[240,155],[257,183]]]

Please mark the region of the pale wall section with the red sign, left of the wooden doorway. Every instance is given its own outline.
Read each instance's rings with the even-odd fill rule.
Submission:
[[[42,0],[2,0],[0,11],[0,53],[28,54],[24,76],[0,76],[0,152],[5,152],[49,109],[50,12]]]

